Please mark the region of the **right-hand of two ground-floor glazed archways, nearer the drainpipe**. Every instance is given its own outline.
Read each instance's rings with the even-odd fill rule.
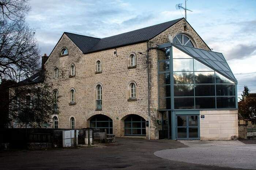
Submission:
[[[146,120],[139,115],[128,115],[127,118],[124,119],[124,135],[146,135]]]

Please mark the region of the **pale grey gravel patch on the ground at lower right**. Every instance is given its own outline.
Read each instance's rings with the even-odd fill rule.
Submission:
[[[160,150],[157,157],[221,167],[256,169],[256,145],[240,141],[180,141],[187,148]]]

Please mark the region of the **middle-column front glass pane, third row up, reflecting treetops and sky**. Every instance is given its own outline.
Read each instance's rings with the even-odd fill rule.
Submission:
[[[195,72],[195,83],[214,83],[214,72]]]

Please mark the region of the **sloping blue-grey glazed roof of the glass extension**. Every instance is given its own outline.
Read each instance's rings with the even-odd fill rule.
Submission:
[[[202,50],[194,47],[182,46],[180,44],[174,43],[172,43],[172,45],[182,52],[190,55],[194,59],[198,60],[199,62],[217,71],[219,74],[237,83],[237,79],[235,78],[229,65],[227,64],[226,59],[221,53]]]

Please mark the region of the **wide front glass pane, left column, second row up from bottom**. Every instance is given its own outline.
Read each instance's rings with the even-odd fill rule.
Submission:
[[[194,96],[193,84],[188,84],[188,85],[174,84],[174,96]]]

